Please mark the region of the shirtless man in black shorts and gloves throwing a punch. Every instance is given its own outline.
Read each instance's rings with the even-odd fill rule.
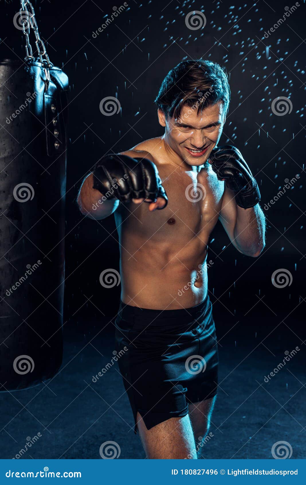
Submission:
[[[88,217],[115,216],[116,345],[128,348],[119,367],[148,458],[196,459],[208,432],[218,352],[206,259],[217,220],[240,253],[264,247],[257,183],[237,148],[217,146],[229,100],[219,65],[180,63],[155,99],[165,134],[103,157],[78,195]]]

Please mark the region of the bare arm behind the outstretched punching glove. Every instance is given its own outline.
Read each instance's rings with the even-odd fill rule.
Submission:
[[[119,200],[107,198],[100,191],[93,189],[92,185],[92,174],[89,174],[83,180],[77,196],[79,210],[92,219],[105,219],[117,209]]]

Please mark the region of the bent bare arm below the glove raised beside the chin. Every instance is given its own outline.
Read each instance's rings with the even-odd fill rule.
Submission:
[[[265,246],[265,217],[260,205],[243,209],[234,192],[225,186],[219,219],[235,248],[256,258]]]

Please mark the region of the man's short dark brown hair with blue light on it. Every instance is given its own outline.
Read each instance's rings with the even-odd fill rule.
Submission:
[[[224,114],[229,111],[230,86],[224,69],[212,61],[183,61],[171,69],[156,96],[157,107],[179,118],[183,105],[198,108],[223,101]]]

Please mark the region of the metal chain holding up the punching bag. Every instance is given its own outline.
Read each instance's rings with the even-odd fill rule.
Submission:
[[[28,9],[28,6],[30,10]],[[38,51],[40,62],[42,63],[42,65],[44,65],[47,78],[49,78],[48,69],[52,66],[52,64],[50,63],[49,56],[46,53],[45,44],[40,38],[40,35],[38,32],[38,26],[35,19],[34,8],[30,1],[20,0],[19,14],[20,14],[20,22],[22,24],[22,32],[26,36],[27,56],[25,58],[25,61],[28,61],[29,59],[33,59],[33,60],[35,59],[32,53],[32,47],[29,39],[29,33],[30,33],[30,27],[31,27],[34,31],[34,35],[36,39],[35,44],[36,44],[36,49]]]

